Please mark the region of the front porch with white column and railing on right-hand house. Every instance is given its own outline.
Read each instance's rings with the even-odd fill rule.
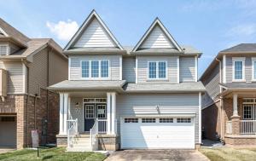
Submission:
[[[256,94],[233,92],[223,100],[224,141],[231,145],[256,145]]]

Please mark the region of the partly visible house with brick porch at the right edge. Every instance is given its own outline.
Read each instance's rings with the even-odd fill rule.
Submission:
[[[208,139],[256,145],[256,43],[224,49],[201,76],[202,128]]]

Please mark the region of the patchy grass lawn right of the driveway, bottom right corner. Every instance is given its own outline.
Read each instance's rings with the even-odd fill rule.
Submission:
[[[256,148],[201,148],[200,152],[212,161],[248,161],[256,160]]]

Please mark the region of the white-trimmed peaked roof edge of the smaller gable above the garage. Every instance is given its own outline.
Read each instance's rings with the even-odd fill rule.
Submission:
[[[147,32],[144,33],[143,37],[140,39],[140,41],[137,43],[137,45],[132,51],[136,52],[138,49],[140,49],[143,43],[147,40],[148,37],[150,37],[151,33],[155,30],[157,30],[158,32],[163,32],[164,35],[162,36],[168,38],[168,40],[170,41],[169,44],[167,44],[167,46],[169,45],[169,49],[171,48],[170,44],[173,44],[175,49],[177,49],[177,52],[183,52],[183,49],[181,49],[181,47],[177,44],[177,42],[174,40],[172,35],[167,31],[166,27],[162,24],[159,18],[156,18],[154,22],[151,24],[151,26],[149,26]]]

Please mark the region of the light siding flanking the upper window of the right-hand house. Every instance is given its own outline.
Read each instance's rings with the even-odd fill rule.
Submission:
[[[239,57],[239,56],[235,56]],[[245,56],[241,56],[245,57]],[[252,57],[245,57],[245,79],[247,82],[252,81]],[[226,56],[226,82],[231,83],[233,79],[233,67],[232,67],[232,56]]]

